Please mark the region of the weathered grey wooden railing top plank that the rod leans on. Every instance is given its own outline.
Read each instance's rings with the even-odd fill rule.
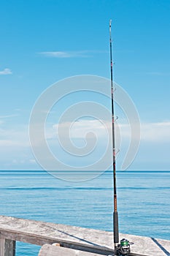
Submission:
[[[112,255],[114,247],[112,232],[5,216],[0,216],[0,236],[41,246],[58,243],[101,255]],[[120,234],[122,238],[134,242],[131,255],[163,256],[170,252],[170,241]]]

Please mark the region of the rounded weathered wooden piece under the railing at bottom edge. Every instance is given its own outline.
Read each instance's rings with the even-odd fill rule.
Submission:
[[[101,256],[90,252],[82,252],[60,246],[45,244],[39,251],[38,256]]]

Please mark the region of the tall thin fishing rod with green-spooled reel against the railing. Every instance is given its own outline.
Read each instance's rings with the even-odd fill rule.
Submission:
[[[112,93],[112,156],[113,156],[113,188],[114,188],[114,212],[113,212],[113,230],[115,255],[126,255],[130,253],[129,241],[123,238],[119,244],[119,225],[117,212],[117,187],[116,187],[116,151],[115,151],[115,118],[114,118],[114,98],[113,98],[113,61],[112,61],[112,20],[109,20],[109,48],[110,48],[110,78]]]

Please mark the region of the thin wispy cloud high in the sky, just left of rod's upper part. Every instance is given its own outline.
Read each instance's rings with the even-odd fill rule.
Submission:
[[[39,54],[51,58],[88,58],[93,53],[106,53],[102,50],[77,50],[77,51],[44,51]]]

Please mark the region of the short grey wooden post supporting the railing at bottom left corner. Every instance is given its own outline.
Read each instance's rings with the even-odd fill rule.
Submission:
[[[15,256],[15,241],[6,238],[0,238],[0,255]]]

